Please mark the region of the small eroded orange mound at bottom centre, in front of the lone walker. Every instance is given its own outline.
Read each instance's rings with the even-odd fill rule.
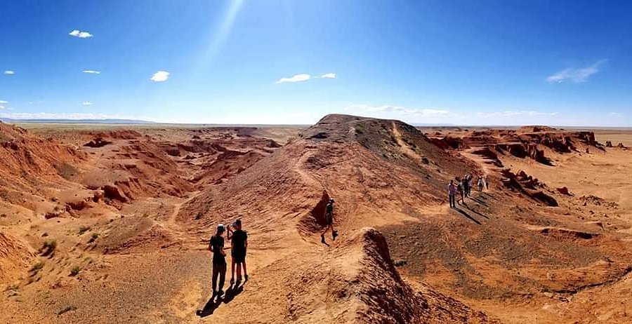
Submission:
[[[415,292],[393,265],[386,239],[364,228],[291,285],[292,321],[313,323],[489,323],[484,313],[426,288]],[[315,290],[323,290],[316,292]],[[327,295],[327,304],[313,299]],[[329,313],[331,319],[322,318]]]

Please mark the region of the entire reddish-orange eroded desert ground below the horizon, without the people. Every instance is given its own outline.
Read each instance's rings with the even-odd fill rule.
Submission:
[[[0,123],[0,323],[632,323],[631,146],[346,115]],[[450,208],[466,174],[489,188]],[[208,240],[237,217],[250,280],[213,300]]]

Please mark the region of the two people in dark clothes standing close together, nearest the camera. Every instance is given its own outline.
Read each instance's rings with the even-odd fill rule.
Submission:
[[[213,298],[224,295],[224,283],[226,279],[226,252],[224,251],[224,233],[230,240],[230,256],[232,258],[230,285],[241,283],[242,266],[244,267],[244,282],[248,281],[246,271],[246,248],[248,248],[248,234],[242,229],[242,220],[239,218],[232,226],[217,225],[216,234],[209,240],[209,250],[213,252]],[[235,281],[235,266],[237,266],[237,281]],[[218,285],[219,278],[219,285]]]

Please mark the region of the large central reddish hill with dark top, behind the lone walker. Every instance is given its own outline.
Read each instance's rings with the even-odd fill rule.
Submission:
[[[450,179],[475,171],[400,121],[329,115],[299,140],[183,205],[180,218],[210,226],[225,210],[237,215],[255,208],[261,215],[282,207],[310,223],[323,192],[343,208],[398,212],[418,208],[419,201],[442,201]]]

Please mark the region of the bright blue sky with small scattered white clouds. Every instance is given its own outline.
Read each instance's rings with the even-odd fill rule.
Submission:
[[[632,126],[629,1],[3,0],[0,12],[0,117]]]

